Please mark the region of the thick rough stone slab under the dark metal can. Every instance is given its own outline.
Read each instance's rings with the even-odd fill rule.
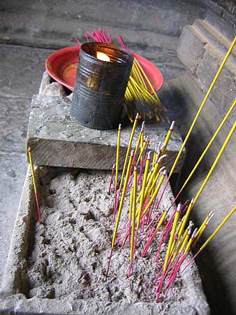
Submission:
[[[59,167],[81,167],[87,169],[111,169],[115,163],[117,130],[91,130],[83,127],[70,116],[71,100],[67,97],[48,97],[35,95],[31,103],[27,146],[32,149],[36,165]],[[147,125],[145,134],[149,135],[151,151],[156,144],[165,139],[168,124]],[[139,128],[138,128],[139,129]],[[131,126],[121,132],[120,167],[124,163]],[[136,144],[138,132],[133,144]],[[170,139],[165,166],[170,169],[182,145],[179,132],[175,130]],[[182,167],[184,153],[176,171]]]

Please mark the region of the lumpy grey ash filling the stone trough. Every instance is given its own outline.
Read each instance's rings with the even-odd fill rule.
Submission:
[[[34,249],[28,260],[29,297],[155,302],[156,286],[152,282],[158,273],[155,255],[159,235],[145,258],[140,257],[144,235],[139,235],[129,278],[128,242],[122,249],[116,247],[109,276],[105,276],[115,225],[114,194],[107,194],[109,182],[110,172],[103,171],[74,170],[42,177],[43,224],[36,223]],[[166,196],[164,199],[166,202]],[[127,213],[128,197],[119,230]],[[160,262],[164,253],[162,248]],[[177,278],[167,301],[183,297],[182,281]]]

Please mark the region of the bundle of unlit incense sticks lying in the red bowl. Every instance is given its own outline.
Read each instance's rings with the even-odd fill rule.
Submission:
[[[103,32],[101,27],[98,30],[94,28],[91,32],[87,31],[84,36],[88,42],[89,38],[91,38],[93,41],[98,41],[100,43],[112,43],[112,38],[108,29]],[[117,35],[117,38],[121,47],[128,50],[124,44],[123,38],[119,34]],[[75,37],[75,40],[81,45],[78,38]],[[140,113],[141,118],[168,122],[167,109],[161,104],[152,83],[136,58],[134,58],[125,98],[127,101],[125,104],[126,114],[132,123],[137,111]]]

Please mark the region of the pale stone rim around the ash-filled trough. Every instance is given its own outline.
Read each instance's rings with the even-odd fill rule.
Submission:
[[[52,168],[47,167],[36,169],[36,181],[43,178],[44,174],[51,172]],[[40,174],[40,175],[39,175]],[[93,181],[93,174],[91,179]],[[173,196],[170,186],[168,186],[163,202],[170,204]],[[114,314],[114,315],[208,315],[209,306],[202,291],[198,269],[195,264],[187,269],[182,276],[182,286],[184,287],[183,300],[175,300],[171,304],[137,302],[103,302],[91,298],[88,300],[60,300],[32,297],[27,298],[27,279],[25,267],[29,258],[29,244],[34,244],[34,222],[36,215],[36,204],[34,201],[34,186],[31,179],[31,172],[28,169],[24,182],[20,207],[15,222],[15,229],[6,264],[6,272],[1,285],[0,304],[3,314]],[[184,266],[183,266],[184,267]]]

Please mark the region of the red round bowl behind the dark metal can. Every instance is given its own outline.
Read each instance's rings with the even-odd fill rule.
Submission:
[[[74,90],[79,52],[79,46],[66,47],[52,52],[45,61],[45,67],[49,75],[71,91]],[[135,53],[133,53],[133,56],[140,62],[154,89],[156,91],[160,90],[163,85],[161,71],[144,57]]]

